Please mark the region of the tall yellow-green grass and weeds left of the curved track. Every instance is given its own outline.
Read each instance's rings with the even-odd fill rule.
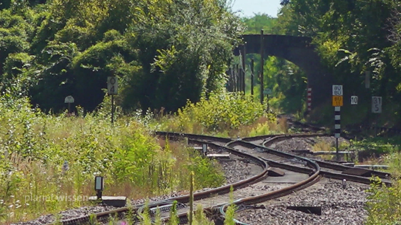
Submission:
[[[94,176],[105,177],[103,195],[130,198],[217,187],[224,177],[217,163],[184,143],[154,138],[144,121],[117,108],[110,124],[107,101],[83,116],[56,116],[32,109],[27,98],[0,97],[0,223],[34,219],[90,205]],[[61,199],[65,197],[65,199]]]

